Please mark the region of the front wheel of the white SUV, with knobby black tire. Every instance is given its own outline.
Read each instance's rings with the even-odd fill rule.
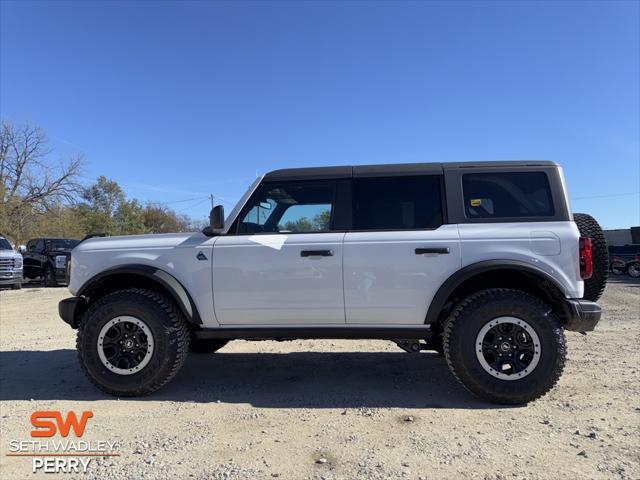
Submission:
[[[131,288],[91,305],[78,328],[77,348],[82,369],[100,390],[122,397],[147,395],[182,367],[189,330],[169,298]]]

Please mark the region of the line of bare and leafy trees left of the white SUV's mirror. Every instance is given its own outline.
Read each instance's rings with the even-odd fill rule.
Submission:
[[[201,224],[162,203],[128,198],[114,180],[81,182],[82,155],[57,159],[45,132],[0,122],[0,234],[17,244],[35,237],[83,238],[185,232]]]

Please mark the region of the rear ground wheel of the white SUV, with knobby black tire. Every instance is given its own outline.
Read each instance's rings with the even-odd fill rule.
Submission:
[[[469,391],[496,403],[527,403],[547,393],[564,368],[560,320],[518,290],[482,290],[464,299],[445,324],[444,354]]]

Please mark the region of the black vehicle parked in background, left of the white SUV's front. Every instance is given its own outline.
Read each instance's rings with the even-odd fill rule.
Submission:
[[[67,262],[71,250],[80,240],[69,238],[33,238],[27,242],[24,257],[24,278],[42,279],[46,287],[66,283]]]

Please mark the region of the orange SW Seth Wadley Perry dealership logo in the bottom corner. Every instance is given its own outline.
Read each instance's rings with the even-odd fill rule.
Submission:
[[[30,457],[32,473],[87,473],[95,457],[117,457],[118,443],[82,440],[93,412],[43,410],[31,414],[33,440],[9,441],[8,457]]]

